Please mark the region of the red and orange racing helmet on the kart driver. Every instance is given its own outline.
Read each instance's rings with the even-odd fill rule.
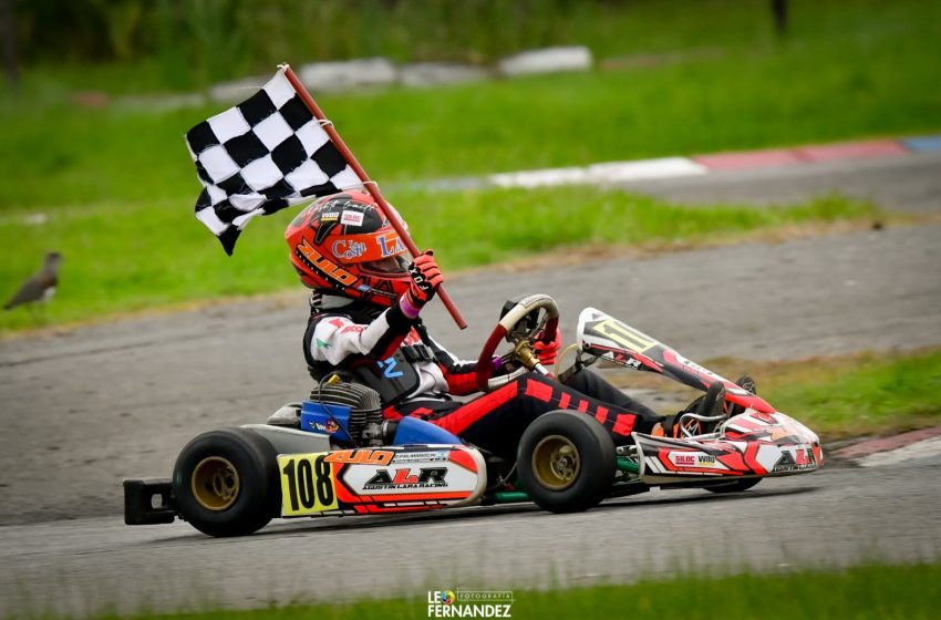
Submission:
[[[389,307],[412,281],[405,245],[366,192],[318,199],[291,221],[285,239],[301,282],[316,290]]]

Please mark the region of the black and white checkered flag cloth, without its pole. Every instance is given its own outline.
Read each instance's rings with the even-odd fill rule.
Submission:
[[[250,99],[189,130],[186,145],[204,185],[196,217],[230,256],[251,218],[362,187],[283,69]]]

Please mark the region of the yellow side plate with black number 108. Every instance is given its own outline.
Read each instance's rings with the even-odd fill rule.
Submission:
[[[281,472],[281,516],[301,517],[335,510],[337,475],[329,452],[278,456]]]

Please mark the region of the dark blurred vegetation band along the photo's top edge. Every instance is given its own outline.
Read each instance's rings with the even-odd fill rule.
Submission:
[[[482,64],[565,44],[590,48],[602,64],[690,49],[754,53],[788,44],[785,22],[798,41],[866,48],[939,14],[933,0],[0,0],[4,3],[14,18],[19,62],[37,69],[28,73],[112,92],[200,89],[263,74],[285,61],[381,55]],[[76,74],[76,68],[83,71]]]

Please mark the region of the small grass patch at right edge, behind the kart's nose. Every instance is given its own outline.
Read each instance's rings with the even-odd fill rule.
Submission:
[[[809,360],[777,372],[762,395],[833,441],[941,423],[941,351]]]

